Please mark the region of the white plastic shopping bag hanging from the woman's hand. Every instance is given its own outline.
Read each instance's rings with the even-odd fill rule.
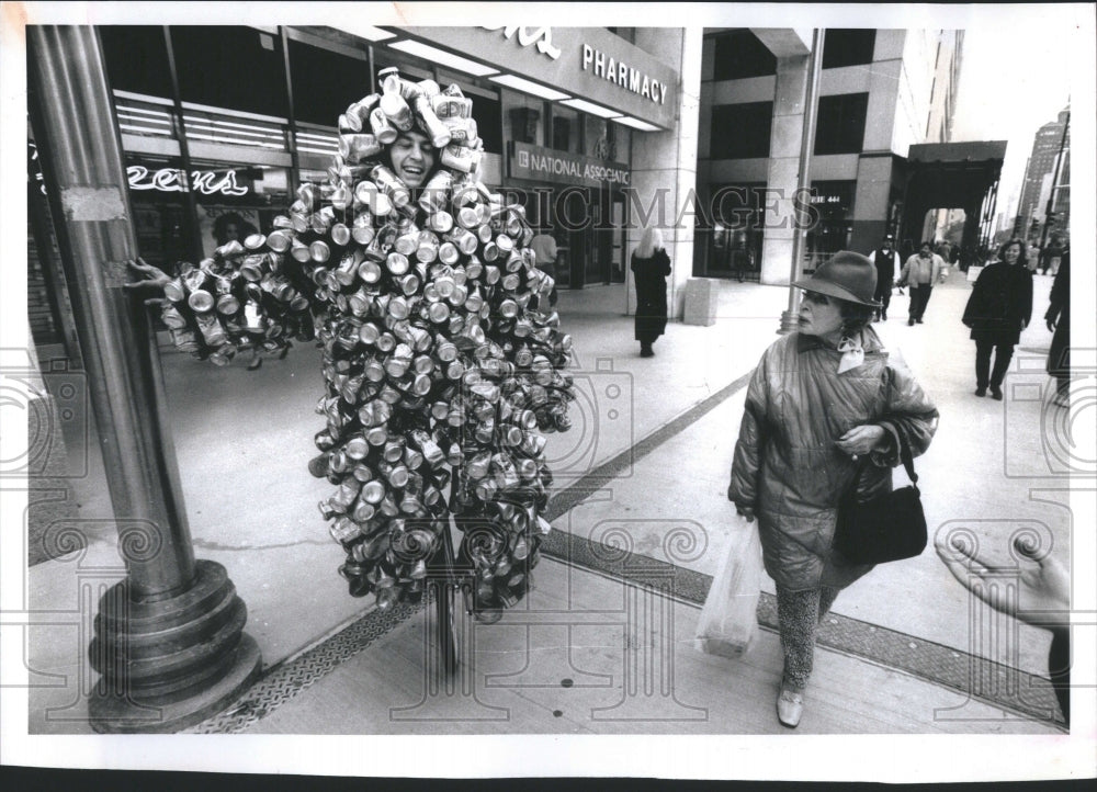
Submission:
[[[758,631],[758,590],[761,586],[761,542],[758,523],[747,523],[746,535],[733,542],[701,609],[697,647],[710,655],[738,657]]]

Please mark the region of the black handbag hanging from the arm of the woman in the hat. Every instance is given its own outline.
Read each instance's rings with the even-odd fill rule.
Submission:
[[[913,558],[926,548],[926,512],[921,508],[918,476],[914,472],[911,446],[902,429],[898,434],[900,457],[913,484],[859,502],[857,485],[864,472],[862,465],[852,487],[838,504],[834,547],[853,564],[884,564]],[[863,464],[870,463],[866,461]]]

